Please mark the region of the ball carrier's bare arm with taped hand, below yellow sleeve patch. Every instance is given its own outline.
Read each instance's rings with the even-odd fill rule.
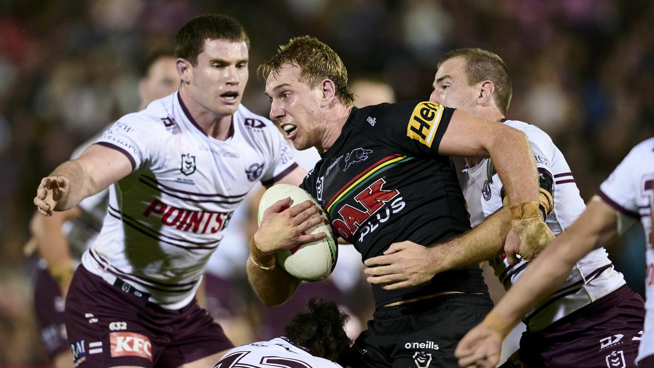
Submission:
[[[512,229],[506,242],[519,249],[522,259],[530,261],[551,242],[554,235],[539,210],[540,185],[534,154],[523,132],[457,109],[443,135],[439,153],[492,159],[511,209]],[[512,265],[517,262],[517,258],[509,259]]]

